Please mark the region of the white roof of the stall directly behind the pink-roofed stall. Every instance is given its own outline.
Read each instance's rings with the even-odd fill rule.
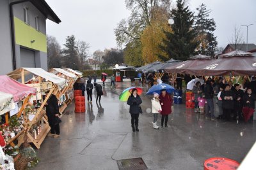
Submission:
[[[22,69],[24,69],[25,75],[29,73],[33,73],[36,76],[45,78],[45,80],[49,80],[52,83],[56,83],[60,89],[63,89],[63,87],[65,87],[66,80],[64,78],[60,78],[59,76],[56,76],[53,73],[49,73],[42,68],[22,67],[22,68],[16,69],[15,71],[12,71],[11,73],[8,73],[8,76],[14,78],[15,80],[18,80],[19,78],[21,78]]]

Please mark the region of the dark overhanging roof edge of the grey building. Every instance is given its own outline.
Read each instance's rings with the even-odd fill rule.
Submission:
[[[51,7],[44,0],[30,0],[30,2],[41,11],[45,17],[53,22],[59,24],[61,22],[60,18],[54,13]]]

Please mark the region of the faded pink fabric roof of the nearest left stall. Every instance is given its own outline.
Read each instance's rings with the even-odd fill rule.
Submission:
[[[13,101],[17,102],[22,100],[29,94],[36,94],[36,89],[28,87],[19,81],[13,80],[9,76],[0,76],[0,92],[13,95]]]

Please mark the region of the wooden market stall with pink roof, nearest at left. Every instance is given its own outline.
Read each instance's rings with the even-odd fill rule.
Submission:
[[[0,76],[0,115],[5,115],[5,124],[1,125],[1,131],[4,133],[6,145],[14,146],[13,141],[24,134],[27,121],[24,109],[33,105],[29,101],[31,94],[36,94],[35,88],[28,87],[9,76]],[[22,138],[19,139],[18,146],[21,143]]]

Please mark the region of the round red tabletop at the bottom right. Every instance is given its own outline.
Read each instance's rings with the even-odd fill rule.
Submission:
[[[234,170],[239,167],[236,160],[215,157],[205,160],[204,170]]]

